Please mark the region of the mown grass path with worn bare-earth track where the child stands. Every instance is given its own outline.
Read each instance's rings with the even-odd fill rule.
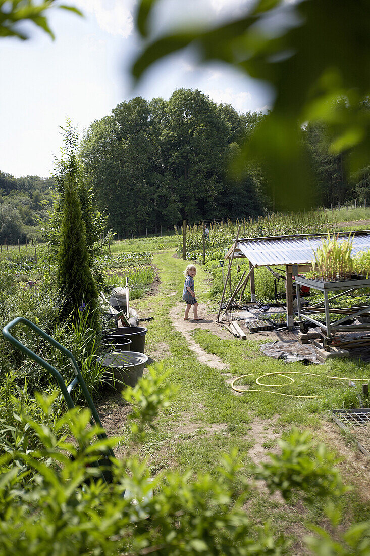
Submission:
[[[268,451],[276,449],[281,435],[296,425],[309,428],[318,441],[324,440],[329,447],[337,448],[339,455],[344,455],[341,465],[344,478],[357,485],[341,504],[348,522],[369,517],[369,461],[329,423],[326,415],[327,409],[338,406],[343,396],[354,395],[345,382],[333,384],[327,375],[368,376],[370,366],[348,361],[316,366],[314,371],[321,373],[319,379],[302,377],[294,388],[297,392],[323,395],[318,400],[284,399],[269,394],[237,396],[227,384],[228,369],[233,376],[238,376],[287,369],[286,365],[262,356],[260,341],[221,339],[209,330],[197,329],[191,321],[186,323],[189,327],[183,334],[180,326],[183,305],[179,302],[186,263],[174,258],[173,251],[164,251],[154,255],[153,264],[159,269],[159,291],[155,296],[135,301],[134,306],[140,315],[154,316],[148,322],[146,353],[162,365],[161,372],[168,371],[167,383],[177,394],[171,406],[159,416],[157,430],[149,434],[141,450],[152,473],[168,468],[184,472],[191,468],[194,473],[216,474],[221,454],[230,453],[233,448],[241,452],[246,466],[257,463],[267,457]],[[209,278],[198,267],[196,294],[200,314],[208,289]],[[289,365],[289,370],[295,369],[302,370],[302,366]],[[300,540],[307,532],[305,520],[317,523],[323,520],[322,508],[302,508],[299,500],[292,505],[283,504],[263,488],[253,491],[248,509],[261,523],[267,517],[272,518],[276,531],[284,530],[292,538],[294,554],[305,553]]]

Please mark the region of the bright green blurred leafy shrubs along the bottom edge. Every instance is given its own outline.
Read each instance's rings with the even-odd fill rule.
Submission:
[[[151,370],[148,379],[128,391],[126,397],[134,404],[136,441],[145,439],[146,423],[153,426],[158,411],[168,404],[169,391],[161,383]],[[49,424],[53,400],[54,396],[38,396]],[[249,519],[245,505],[251,486],[236,451],[222,457],[216,477],[193,476],[189,470],[184,475],[175,471],[151,479],[146,465],[136,459],[113,459],[113,481],[106,484],[91,463],[117,439],[92,444],[97,429],[87,428],[88,410],[70,410],[51,427],[41,426],[26,412],[22,419],[38,444],[19,445],[0,459],[0,554],[290,553],[289,543],[274,537],[268,522],[261,528]],[[71,434],[78,447],[69,441]],[[335,460],[307,434],[293,431],[282,448],[271,463],[249,473],[286,497],[304,494],[308,504],[314,497],[325,502],[344,492],[333,467]],[[335,529],[340,515],[333,511],[329,515]],[[364,555],[370,548],[369,523],[356,524],[336,534],[335,540],[321,529],[316,533],[322,535],[324,544],[310,537],[313,554]]]

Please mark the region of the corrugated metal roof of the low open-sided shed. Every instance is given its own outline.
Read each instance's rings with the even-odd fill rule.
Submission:
[[[338,241],[348,239],[339,237]],[[323,237],[257,238],[238,241],[237,257],[246,257],[254,266],[303,265],[311,263],[313,252],[322,244]],[[353,236],[352,252],[370,250],[370,234]]]

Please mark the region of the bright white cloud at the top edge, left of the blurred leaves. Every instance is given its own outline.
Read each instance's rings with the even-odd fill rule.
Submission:
[[[84,13],[91,13],[106,33],[127,38],[133,31],[135,0],[77,0],[74,4]]]

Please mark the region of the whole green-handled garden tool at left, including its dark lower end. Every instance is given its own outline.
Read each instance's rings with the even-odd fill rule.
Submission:
[[[46,340],[49,344],[52,344],[54,347],[56,347],[56,349],[58,349],[64,355],[66,355],[67,359],[69,360],[69,362],[72,365],[74,375],[75,375],[71,384],[66,386],[66,384],[64,383],[62,375],[56,369],[54,369],[54,367],[52,365],[50,365],[49,363],[47,363],[47,361],[45,361],[44,359],[42,359],[41,357],[39,357],[38,355],[33,353],[33,351],[31,351],[27,346],[25,346],[24,344],[22,344],[22,342],[20,342],[14,336],[12,336],[10,331],[15,326],[17,326],[18,324],[23,324],[23,325],[27,326],[28,328],[30,328],[31,330],[36,332],[37,335],[43,337],[43,339]],[[66,347],[59,344],[59,342],[57,342],[57,340],[54,340],[54,338],[49,336],[48,334],[46,334],[46,332],[39,329],[39,327],[36,326],[36,324],[34,324],[33,322],[31,322],[27,319],[23,319],[23,317],[17,317],[17,319],[12,320],[12,322],[9,322],[9,324],[4,326],[3,335],[6,337],[6,339],[9,342],[11,342],[11,344],[14,347],[16,347],[16,349],[19,349],[20,351],[22,351],[22,353],[24,353],[29,358],[31,358],[33,361],[35,361],[36,363],[41,365],[44,369],[46,369],[49,373],[51,373],[54,376],[54,378],[57,380],[57,383],[58,383],[60,389],[62,390],[62,394],[64,396],[64,399],[66,400],[66,404],[68,406],[68,409],[74,408],[73,400],[72,400],[72,397],[71,397],[71,391],[74,388],[74,386],[79,384],[81,386],[82,393],[86,398],[87,404],[88,404],[88,406],[91,410],[91,415],[92,415],[91,416],[91,424],[93,426],[98,425],[99,428],[101,429],[99,431],[99,433],[97,433],[98,438],[101,439],[101,440],[107,439],[106,432],[102,428],[101,420],[99,419],[99,415],[98,415],[98,412],[96,410],[96,407],[94,406],[94,403],[91,399],[91,395],[89,394],[89,391],[86,387],[85,381],[83,380],[82,374],[81,374],[81,372],[78,368],[76,360],[74,359],[71,351],[67,350]],[[106,449],[104,449],[104,451],[102,453],[99,453],[99,457],[96,460],[93,460],[92,463],[91,463],[92,466],[95,466],[95,467],[99,468],[99,470],[101,471],[102,478],[107,483],[112,480],[112,474],[111,474],[111,471],[109,470],[109,468],[111,466],[111,458],[114,458],[114,452],[111,448],[107,447]]]

